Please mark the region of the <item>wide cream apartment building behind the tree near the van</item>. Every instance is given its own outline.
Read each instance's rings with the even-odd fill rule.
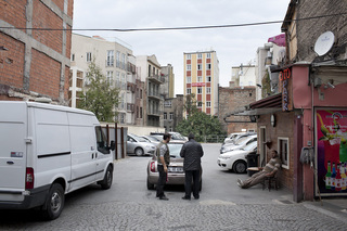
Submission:
[[[78,95],[83,90],[88,66],[94,62],[102,69],[111,87],[119,89],[119,105],[115,108],[118,117],[115,120],[120,125],[142,124],[141,119],[138,119],[141,118],[142,102],[140,90],[137,88],[141,84],[137,85],[140,76],[137,74],[131,47],[116,38],[110,41],[99,36],[78,34],[73,34],[72,43],[69,105],[78,105]]]

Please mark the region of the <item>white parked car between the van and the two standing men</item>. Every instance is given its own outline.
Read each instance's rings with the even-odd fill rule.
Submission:
[[[137,156],[153,155],[155,145],[145,139],[136,134],[127,136],[127,154],[136,154]]]

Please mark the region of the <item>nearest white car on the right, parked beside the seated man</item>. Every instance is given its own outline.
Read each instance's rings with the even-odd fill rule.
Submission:
[[[226,170],[244,174],[247,170],[246,156],[255,152],[257,152],[257,141],[253,141],[242,149],[220,154],[217,164]]]

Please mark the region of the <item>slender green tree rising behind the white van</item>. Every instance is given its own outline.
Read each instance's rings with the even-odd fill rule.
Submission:
[[[93,112],[100,121],[114,121],[117,115],[115,108],[119,103],[119,90],[111,88],[94,61],[89,64],[86,78],[78,107]]]

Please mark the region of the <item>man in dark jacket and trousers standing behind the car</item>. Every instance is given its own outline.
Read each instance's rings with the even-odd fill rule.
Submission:
[[[185,195],[183,200],[191,200],[192,179],[193,179],[193,196],[198,200],[200,191],[200,175],[201,175],[201,158],[204,155],[203,147],[194,140],[194,134],[188,136],[189,141],[183,144],[180,156],[184,158],[183,169],[185,172]]]

